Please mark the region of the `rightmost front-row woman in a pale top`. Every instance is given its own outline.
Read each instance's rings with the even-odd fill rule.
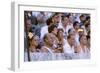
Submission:
[[[89,59],[90,58],[90,50],[87,47],[86,35],[80,36],[79,41],[80,41],[80,46],[77,49],[78,58],[79,59]]]

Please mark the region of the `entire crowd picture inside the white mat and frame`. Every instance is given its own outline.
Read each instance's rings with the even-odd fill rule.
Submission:
[[[90,14],[24,11],[24,61],[90,59]]]

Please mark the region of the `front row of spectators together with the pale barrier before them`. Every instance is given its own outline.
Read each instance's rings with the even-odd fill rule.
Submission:
[[[31,33],[32,34],[32,33]],[[31,36],[31,35],[29,35]],[[53,35],[45,34],[44,45],[39,48],[39,38],[33,35],[29,38],[29,53],[31,61],[47,61],[47,60],[68,60],[68,59],[89,59],[90,49],[87,46],[87,38],[85,35],[80,36],[80,45],[75,44],[75,35],[70,34],[62,44],[58,42],[54,46]],[[28,54],[25,51],[25,61],[28,61]]]

